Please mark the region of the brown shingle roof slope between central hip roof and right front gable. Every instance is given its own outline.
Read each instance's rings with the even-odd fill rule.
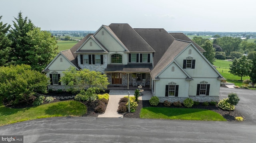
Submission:
[[[153,65],[156,65],[174,41],[174,37],[164,29],[134,29],[153,49]]]

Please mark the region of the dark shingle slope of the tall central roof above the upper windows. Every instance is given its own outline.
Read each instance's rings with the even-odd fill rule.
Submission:
[[[154,52],[154,49],[129,24],[110,24],[108,27],[129,51]]]

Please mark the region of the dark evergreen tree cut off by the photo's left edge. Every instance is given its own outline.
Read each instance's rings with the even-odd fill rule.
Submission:
[[[2,19],[2,16],[0,16],[0,20]],[[3,22],[0,22],[0,67],[7,65],[7,61],[10,58],[9,55],[11,53],[11,41],[6,36],[6,33],[10,29],[11,25],[3,24]]]

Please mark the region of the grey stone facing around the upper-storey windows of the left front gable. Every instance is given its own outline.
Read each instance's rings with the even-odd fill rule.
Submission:
[[[80,55],[77,56],[78,66],[81,69],[89,69],[90,71],[99,71],[104,73],[104,70],[107,68],[107,55],[103,54],[103,64],[81,64]],[[111,82],[110,82],[111,83]]]

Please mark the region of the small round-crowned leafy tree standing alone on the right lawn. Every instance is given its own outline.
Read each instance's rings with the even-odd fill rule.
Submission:
[[[230,65],[230,73],[241,76],[248,76],[252,68],[251,60],[248,60],[246,56],[242,56],[240,59],[234,59]]]

